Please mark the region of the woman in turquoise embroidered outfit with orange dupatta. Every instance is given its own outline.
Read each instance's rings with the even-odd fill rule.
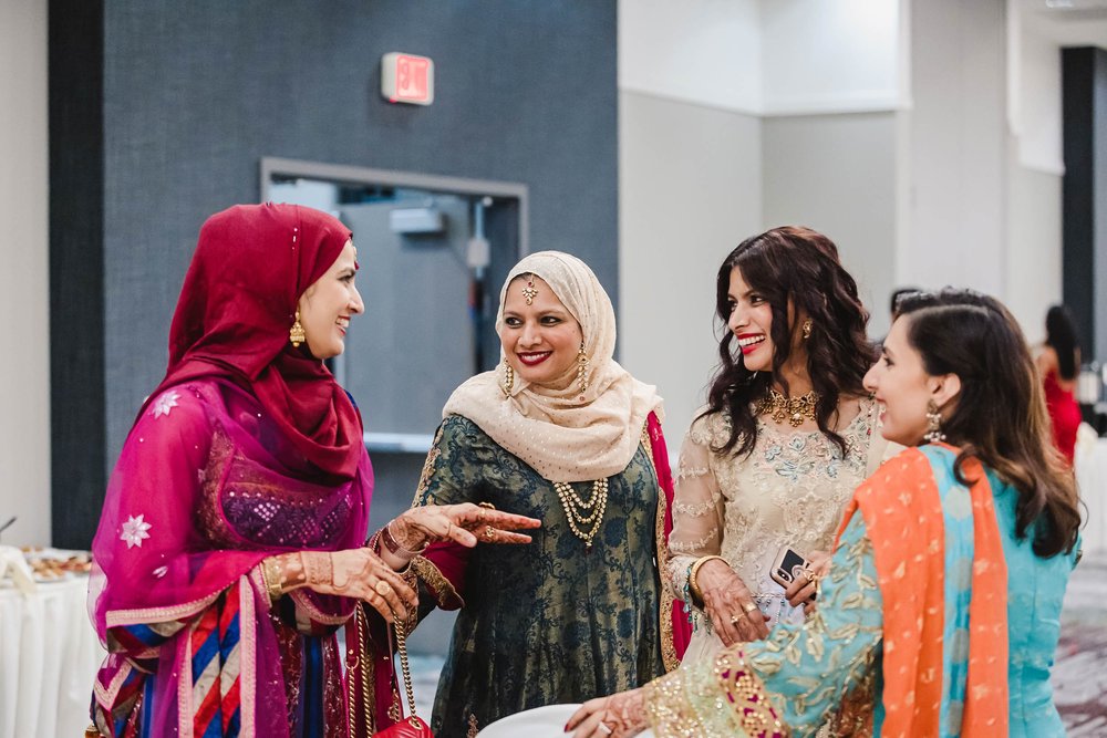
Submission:
[[[1014,319],[968,291],[906,299],[866,386],[908,448],[855,492],[818,606],[643,689],[586,703],[575,737],[1064,736],[1049,668],[1079,558]]]

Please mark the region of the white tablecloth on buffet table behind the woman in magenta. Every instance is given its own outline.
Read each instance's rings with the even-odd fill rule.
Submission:
[[[77,738],[104,651],[85,610],[87,576],[0,589],[0,738]]]

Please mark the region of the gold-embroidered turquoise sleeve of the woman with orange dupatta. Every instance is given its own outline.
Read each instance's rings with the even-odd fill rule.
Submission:
[[[855,516],[819,584],[815,614],[651,683],[645,706],[654,734],[783,736],[787,726],[793,736],[814,736],[828,718],[838,730],[856,729],[872,716],[881,613],[872,544]]]

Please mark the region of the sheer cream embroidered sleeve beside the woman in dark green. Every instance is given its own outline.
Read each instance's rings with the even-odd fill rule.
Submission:
[[[669,582],[684,599],[687,568],[700,557],[717,554],[723,542],[723,496],[711,470],[706,438],[693,430],[684,438],[673,482],[673,531],[669,534]]]

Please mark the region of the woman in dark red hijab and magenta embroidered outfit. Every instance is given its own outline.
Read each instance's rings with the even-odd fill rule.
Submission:
[[[414,554],[387,527],[366,540],[361,415],[322,362],[364,311],[356,271],[349,229],[310,208],[236,206],[200,230],[166,376],[93,542],[102,735],[353,737],[392,724],[392,659],[373,656],[417,602]],[[509,531],[537,524],[472,505],[392,523],[408,545],[475,545],[473,531],[527,542]],[[351,666],[373,668],[345,682],[335,632],[352,622],[368,651],[351,649]]]

